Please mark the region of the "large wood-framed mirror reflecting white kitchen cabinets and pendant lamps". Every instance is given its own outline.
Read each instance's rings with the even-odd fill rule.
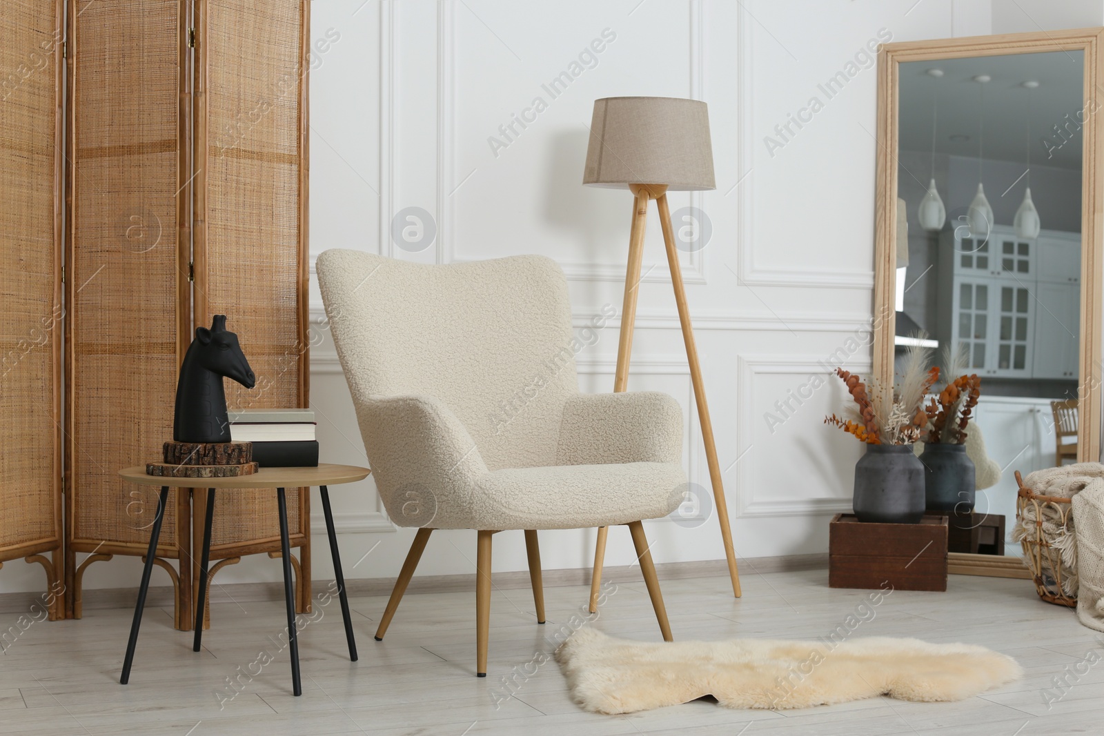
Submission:
[[[1004,516],[1004,556],[953,553],[952,572],[1026,576],[1015,471],[1101,457],[1102,33],[880,54],[874,372],[916,339],[956,346],[1002,469],[976,511]]]

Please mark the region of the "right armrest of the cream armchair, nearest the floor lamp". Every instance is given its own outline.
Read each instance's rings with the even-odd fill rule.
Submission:
[[[680,462],[682,408],[667,394],[576,394],[560,425],[560,465]]]

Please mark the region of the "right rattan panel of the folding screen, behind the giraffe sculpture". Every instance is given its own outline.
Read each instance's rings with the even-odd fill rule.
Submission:
[[[306,406],[307,3],[206,0],[199,8],[197,322],[227,314],[257,376],[248,391],[226,382],[231,408]],[[293,535],[308,531],[305,500],[288,494]],[[278,529],[274,492],[219,493],[213,546],[276,540]]]

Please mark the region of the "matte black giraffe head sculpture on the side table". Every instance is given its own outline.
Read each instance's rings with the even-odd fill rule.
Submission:
[[[226,316],[215,314],[211,329],[195,328],[195,339],[184,354],[177,383],[177,410],[172,438],[178,442],[229,442],[230,418],[223,376],[253,388],[256,378],[237,344],[226,331]]]

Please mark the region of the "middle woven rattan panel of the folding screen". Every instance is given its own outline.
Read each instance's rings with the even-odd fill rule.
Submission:
[[[7,2],[7,0],[4,0]],[[144,550],[157,489],[119,468],[172,436],[179,366],[179,0],[71,8],[70,538]],[[187,316],[187,314],[185,314]],[[184,316],[184,317],[185,317]],[[161,547],[176,556],[170,497]],[[185,524],[187,521],[182,520]],[[86,550],[87,551],[87,550]]]

